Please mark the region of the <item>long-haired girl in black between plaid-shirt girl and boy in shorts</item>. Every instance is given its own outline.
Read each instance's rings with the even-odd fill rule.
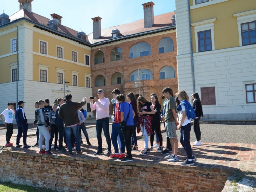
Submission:
[[[161,121],[161,116],[160,116],[160,109],[161,109],[161,104],[158,101],[157,95],[156,94],[151,94],[151,103],[153,106],[153,109],[155,111],[155,114],[152,115],[152,132],[153,134],[150,136],[150,150],[153,150],[153,147],[158,147],[157,152],[162,152],[163,151],[163,137],[161,134],[161,128],[160,128],[160,121]],[[156,141],[157,144],[153,146],[154,142],[154,131],[156,132]]]

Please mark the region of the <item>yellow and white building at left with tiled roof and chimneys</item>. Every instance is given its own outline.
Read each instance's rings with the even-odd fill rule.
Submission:
[[[57,14],[48,19],[31,12],[32,1],[19,0],[18,12],[0,15],[0,108],[26,101],[29,122],[39,99],[52,105],[67,93],[73,101],[92,94],[87,35],[61,25]]]

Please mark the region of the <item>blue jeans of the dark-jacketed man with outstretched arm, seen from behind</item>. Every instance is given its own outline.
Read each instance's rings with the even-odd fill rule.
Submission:
[[[79,133],[79,125],[75,125],[72,127],[64,127],[65,129],[65,134],[66,134],[66,141],[68,145],[69,152],[72,152],[72,142],[71,142],[71,136],[72,133],[75,135],[75,140],[76,140],[76,150],[77,152],[81,151],[81,140],[80,140],[80,133]]]

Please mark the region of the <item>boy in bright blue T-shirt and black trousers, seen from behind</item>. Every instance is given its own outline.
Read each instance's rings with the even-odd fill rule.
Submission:
[[[134,125],[133,118],[135,116],[135,113],[133,111],[132,105],[130,103],[125,102],[125,97],[123,94],[117,95],[116,99],[120,103],[121,121],[125,121],[127,125],[125,129],[122,129],[127,150],[127,157],[125,157],[121,161],[129,162],[133,160],[131,139]]]

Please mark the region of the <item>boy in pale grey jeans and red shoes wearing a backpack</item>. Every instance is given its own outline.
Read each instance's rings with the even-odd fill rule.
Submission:
[[[45,101],[39,100],[38,101],[39,108],[36,110],[36,118],[38,120],[37,126],[39,129],[39,148],[40,152],[39,154],[46,154],[51,155],[53,152],[49,149],[49,141],[50,141],[50,134],[49,134],[49,127],[44,119],[44,113],[42,112],[42,109],[45,107]],[[42,148],[42,140],[45,138],[46,141],[46,151]]]

